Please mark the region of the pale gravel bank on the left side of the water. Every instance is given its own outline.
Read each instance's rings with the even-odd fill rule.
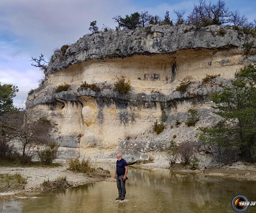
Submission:
[[[44,181],[54,181],[58,177],[66,177],[70,187],[76,187],[82,184],[105,180],[110,173],[108,170],[96,169],[94,173],[75,173],[67,170],[67,166],[61,167],[0,167],[0,174],[20,173],[26,178],[25,189],[18,191],[5,191],[0,193],[0,197],[13,196],[15,194],[34,193],[43,190]]]

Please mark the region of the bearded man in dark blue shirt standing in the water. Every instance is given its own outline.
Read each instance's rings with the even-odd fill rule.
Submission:
[[[116,200],[124,200],[125,199],[125,180],[127,179],[126,175],[128,173],[128,164],[125,161],[125,159],[122,158],[121,154],[116,155],[117,161],[116,161],[116,170],[115,170],[115,176],[116,179],[116,185],[118,189],[118,198]]]

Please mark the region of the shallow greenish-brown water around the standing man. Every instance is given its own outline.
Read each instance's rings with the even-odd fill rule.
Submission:
[[[114,164],[97,165],[113,172]],[[113,179],[114,180],[114,179]],[[38,199],[0,199],[0,212],[233,212],[230,200],[242,193],[256,201],[256,182],[202,174],[170,173],[129,167],[127,202],[116,202],[116,182],[86,184]],[[256,206],[247,212],[256,212]]]

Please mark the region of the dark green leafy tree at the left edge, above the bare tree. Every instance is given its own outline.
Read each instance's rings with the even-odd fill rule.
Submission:
[[[18,87],[12,84],[0,83],[0,115],[6,112],[17,111],[17,108],[13,105],[13,98],[16,96],[16,92],[19,91]]]

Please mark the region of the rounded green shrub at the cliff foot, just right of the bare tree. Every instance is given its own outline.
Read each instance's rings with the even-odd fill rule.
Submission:
[[[44,150],[38,152],[38,157],[40,161],[45,165],[51,164],[52,161],[58,158],[59,147],[60,147],[60,144],[56,142],[47,144],[47,147],[45,147]]]

